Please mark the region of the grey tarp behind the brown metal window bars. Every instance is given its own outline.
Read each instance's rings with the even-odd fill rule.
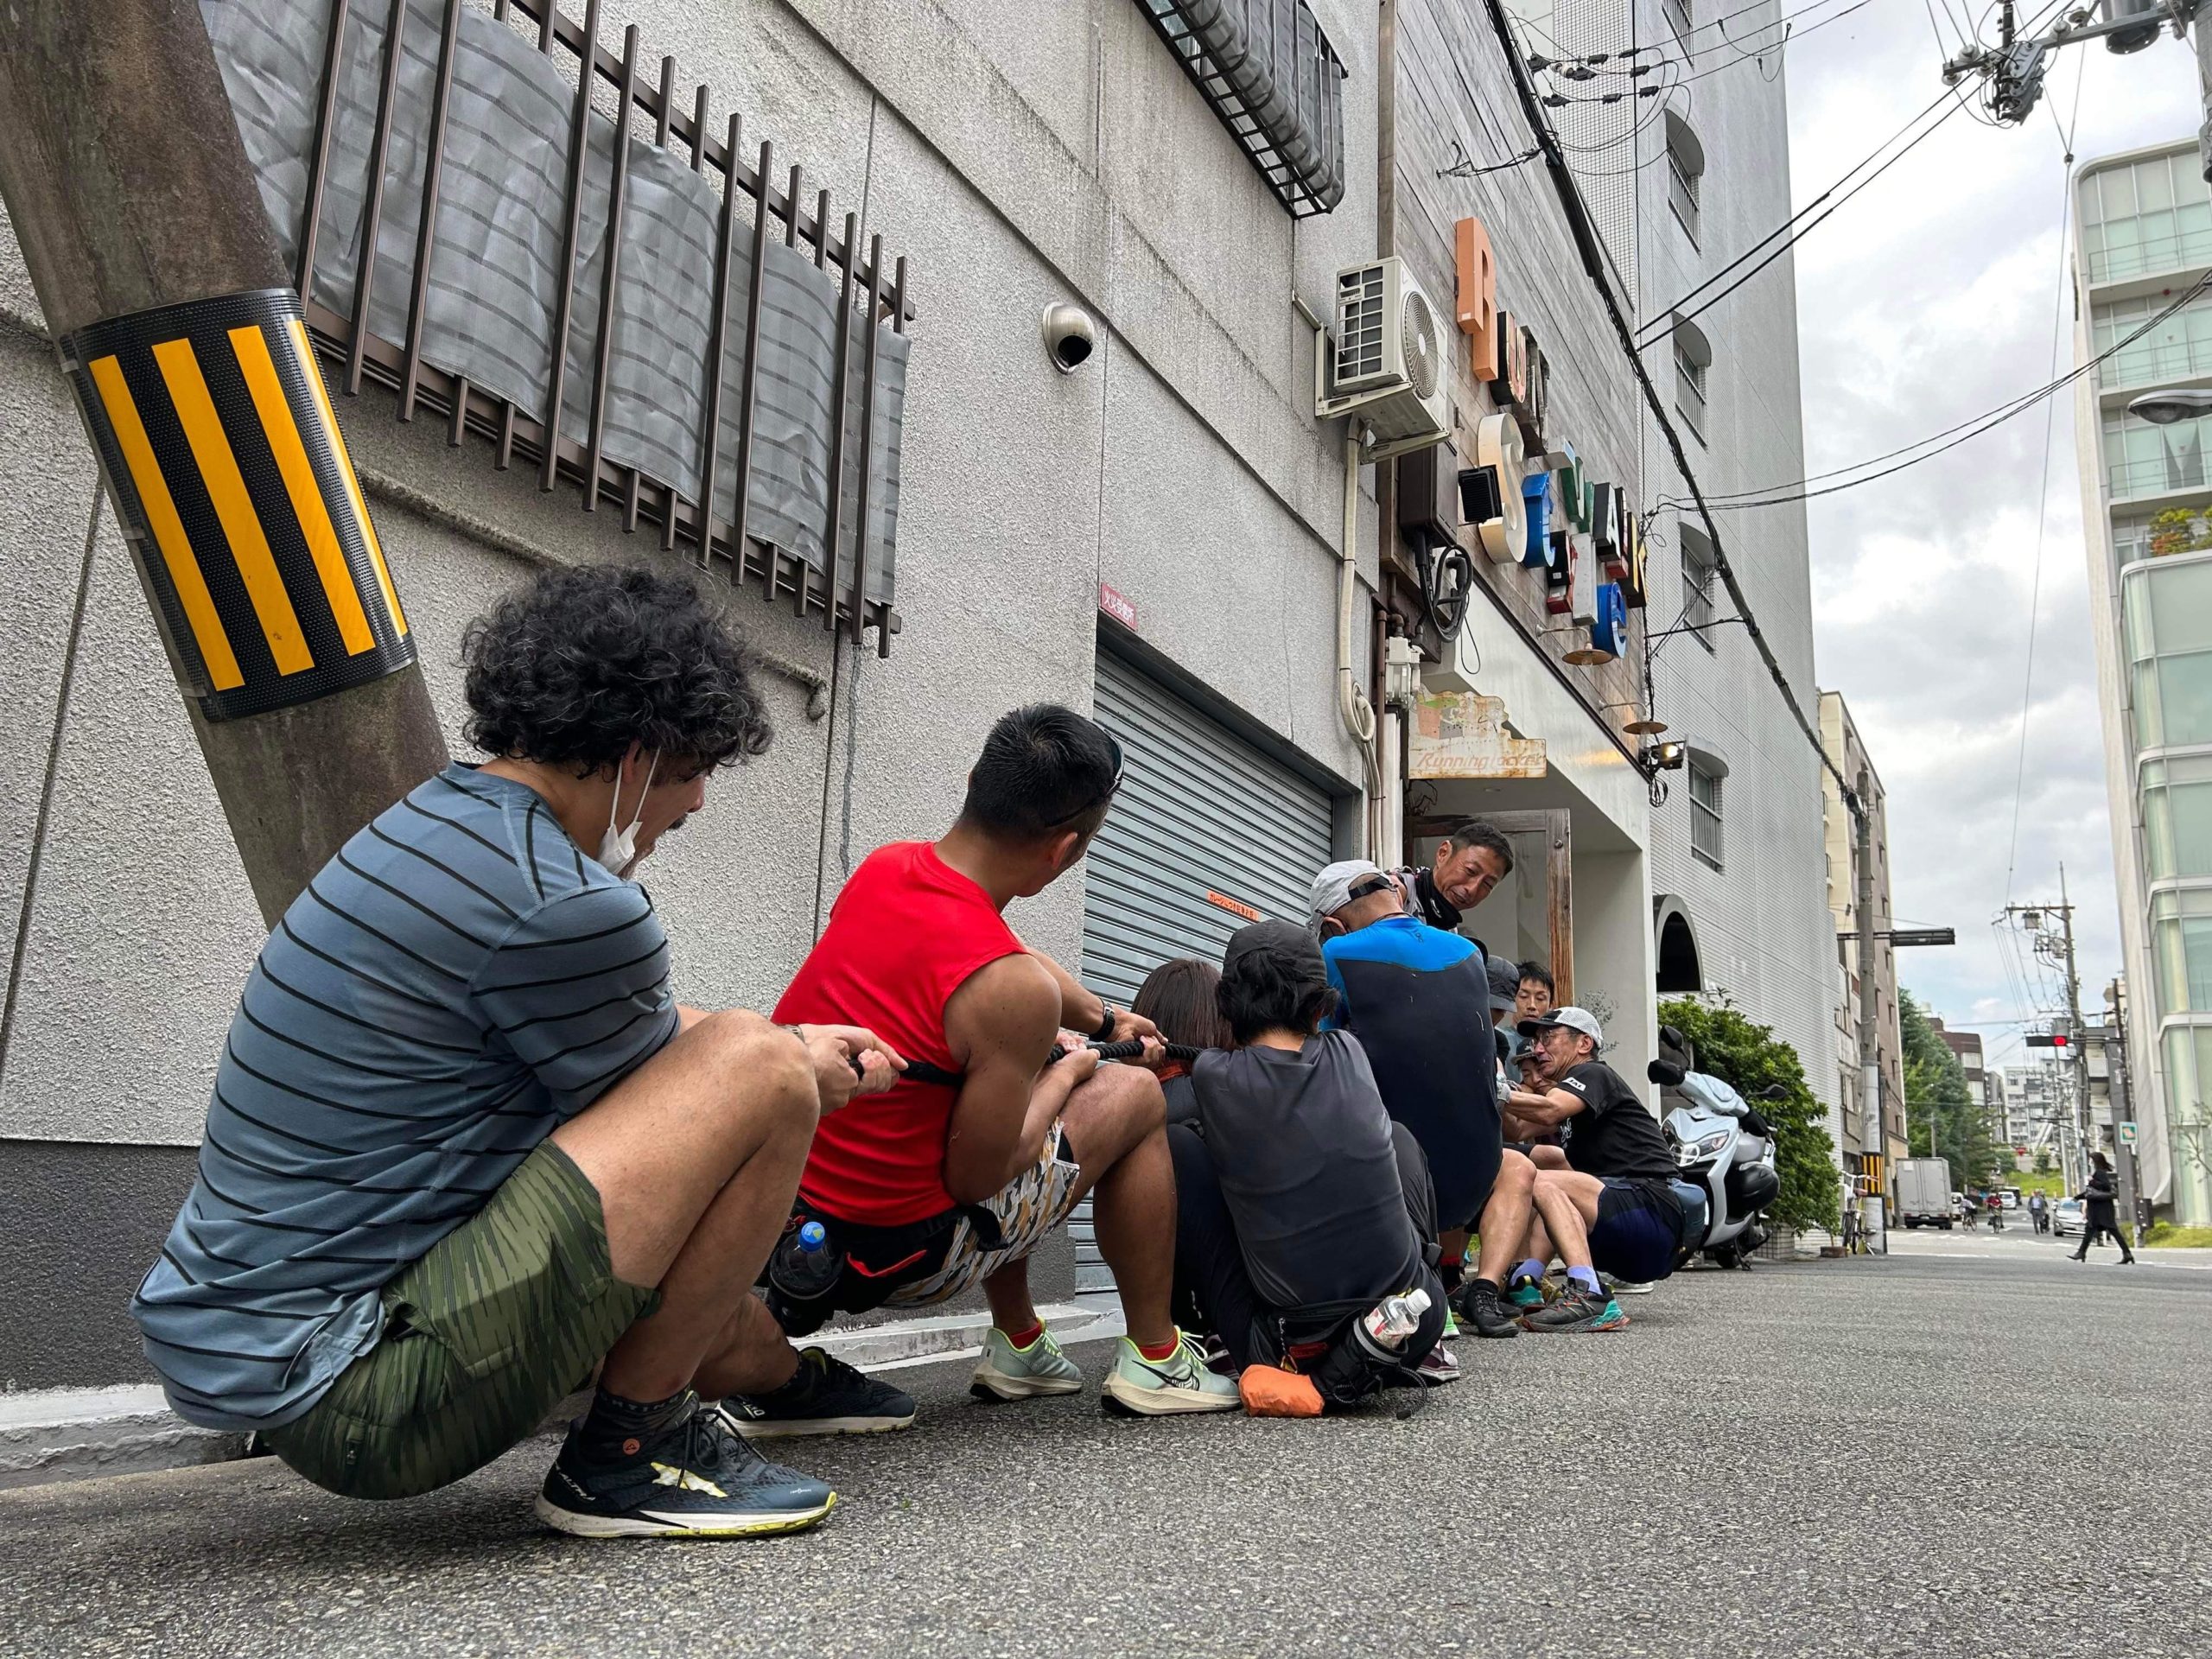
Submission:
[[[369,285],[369,332],[403,345],[414,301],[414,257],[422,177],[447,4],[462,4],[447,104],[445,166],[422,310],[422,361],[511,398],[542,420],[551,394],[553,330],[575,115],[577,62],[544,55],[533,38],[465,0],[405,0],[400,71],[385,155],[385,199]],[[296,259],[307,204],[307,155],[323,77],[330,0],[201,0],[208,35],[239,117],[246,155],[261,177],[276,241]],[[316,228],[310,296],[352,316],[367,217],[369,150],[383,88],[392,9],[356,0],[347,9],[338,104]],[[622,259],[615,276],[602,453],[697,500],[706,422],[708,336],[721,192],[664,150],[633,111]],[[599,296],[606,283],[615,122],[586,124],[584,210],[577,232],[573,316],[560,429],[591,434]],[[745,372],[752,201],[739,199],[732,237],[730,312],[723,354],[723,418],[714,511],[737,502],[739,389]],[[832,272],[774,237],[761,292],[761,369],[754,392],[752,487],[745,531],[823,568],[830,518],[830,429],[836,409],[836,299]],[[865,321],[854,319],[845,434],[843,571],[852,568],[858,511],[858,420]],[[880,330],[876,447],[869,458],[869,597],[889,602],[898,526],[898,451],[905,416],[907,341]],[[838,577],[843,593],[849,575]]]

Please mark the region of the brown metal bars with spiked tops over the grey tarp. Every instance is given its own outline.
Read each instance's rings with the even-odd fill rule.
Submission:
[[[347,15],[365,4],[385,11],[385,38],[378,66],[376,119],[369,139],[367,199],[363,206],[363,230],[358,239],[361,259],[354,276],[352,305],[336,310],[316,299],[319,263],[325,250],[319,246],[325,192],[330,186],[332,135],[338,122],[341,58],[347,42]],[[885,316],[896,334],[905,334],[914,310],[907,301],[907,259],[898,257],[891,272],[885,272],[883,237],[867,237],[867,252],[858,248],[858,217],[843,215],[838,228],[830,190],[818,190],[814,201],[803,199],[803,175],[792,166],[779,188],[776,153],[770,142],[761,142],[754,153],[743,144],[743,117],[730,113],[726,126],[710,124],[710,91],[697,86],[688,106],[677,95],[677,62],[661,58],[657,80],[648,77],[639,62],[639,33],[630,24],[622,35],[619,55],[602,42],[599,0],[586,0],[584,20],[577,22],[560,11],[553,0],[493,0],[489,15],[504,27],[513,27],[511,15],[535,24],[538,51],[546,58],[564,55],[575,64],[575,102],[568,119],[566,192],[562,199],[564,246],[560,281],[553,312],[551,338],[551,387],[544,416],[533,416],[513,396],[471,385],[465,374],[442,369],[425,358],[425,316],[431,288],[431,261],[440,223],[440,197],[445,190],[445,148],[453,106],[453,62],[456,42],[465,11],[480,11],[469,0],[445,0],[442,33],[438,38],[436,77],[431,82],[429,128],[420,184],[420,217],[411,250],[407,323],[403,338],[387,338],[369,327],[376,290],[378,232],[387,212],[387,173],[392,166],[392,135],[396,91],[403,69],[403,51],[409,33],[409,0],[330,0],[330,29],[323,51],[323,73],[316,100],[314,139],[305,157],[305,215],[296,239],[294,279],[305,305],[307,325],[323,354],[341,365],[345,392],[358,392],[365,380],[376,380],[398,394],[398,418],[411,420],[418,407],[445,416],[447,442],[460,445],[465,434],[495,445],[495,465],[504,471],[515,456],[535,462],[540,489],[551,491],[555,482],[571,482],[584,493],[584,511],[597,511],[599,502],[613,502],[622,511],[626,531],[639,522],[659,524],[664,551],[688,544],[690,557],[703,568],[714,568],[717,560],[728,571],[732,584],[754,580],[770,602],[787,595],[799,615],[818,611],[825,628],[845,628],[858,644],[863,628],[878,630],[878,655],[889,655],[891,635],[898,633],[898,613],[889,602],[889,571],[878,571],[883,597],[872,597],[869,549],[872,535],[872,473],[876,453],[876,400],[878,400],[878,354],[883,345]],[[591,345],[591,394],[582,440],[562,431],[562,411],[568,396],[568,354],[577,327],[577,276],[580,246],[584,230],[586,159],[591,150],[591,122],[595,104],[606,88],[615,93],[615,146],[611,157],[611,179],[606,195],[606,223],[602,237],[602,261],[597,281],[597,330]],[[611,389],[611,358],[617,336],[617,276],[624,257],[624,223],[630,210],[630,131],[639,122],[653,124],[655,144],[661,148],[688,148],[690,170],[708,186],[714,175],[721,179],[719,226],[714,237],[712,265],[712,314],[706,352],[697,365],[697,383],[703,387],[703,427],[699,434],[699,489],[686,493],[677,480],[657,478],[646,467],[617,460],[606,453],[606,418]],[[741,246],[739,206],[752,206],[752,223]],[[827,509],[821,526],[821,568],[785,549],[748,538],[748,502],[752,493],[757,458],[757,411],[761,385],[761,303],[768,285],[772,221],[781,221],[781,243],[785,250],[810,246],[812,265],[827,274],[836,265],[836,367],[834,407],[827,431]],[[745,312],[732,316],[730,292],[739,276],[737,261],[750,268],[743,283]],[[327,268],[323,268],[327,276]],[[865,325],[865,347],[858,387],[858,420],[852,420],[854,374],[852,349],[856,325]],[[734,385],[726,385],[726,363],[732,349],[743,345],[741,369]],[[734,493],[730,513],[717,511],[721,480],[726,400],[734,405],[737,453]],[[854,425],[854,438],[847,427]],[[847,453],[847,445],[858,445]],[[847,478],[854,478],[856,504],[852,522],[845,522]],[[896,476],[894,476],[896,484]],[[812,531],[810,531],[812,533]],[[845,546],[849,540],[849,571]]]

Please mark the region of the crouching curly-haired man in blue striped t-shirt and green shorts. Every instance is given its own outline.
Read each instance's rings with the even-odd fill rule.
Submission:
[[[699,1013],[630,869],[768,748],[697,588],[562,571],[471,626],[467,737],[261,947],[133,1312],[170,1405],[352,1498],[445,1486],[599,1365],[538,1498],[593,1537],[836,1502],[719,1407],[770,1387],[750,1287],[823,1113],[896,1082],[849,1026]]]

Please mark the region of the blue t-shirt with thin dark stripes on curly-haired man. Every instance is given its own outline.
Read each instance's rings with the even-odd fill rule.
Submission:
[[[261,947],[133,1301],[177,1416],[307,1411],[383,1332],[378,1290],[675,1029],[653,900],[535,790],[449,765],[389,807]]]

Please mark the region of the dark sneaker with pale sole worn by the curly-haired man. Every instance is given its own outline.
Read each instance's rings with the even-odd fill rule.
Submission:
[[[710,1405],[613,1447],[568,1431],[538,1489],[538,1520],[577,1537],[799,1533],[836,1509],[818,1480],[768,1462]]]

